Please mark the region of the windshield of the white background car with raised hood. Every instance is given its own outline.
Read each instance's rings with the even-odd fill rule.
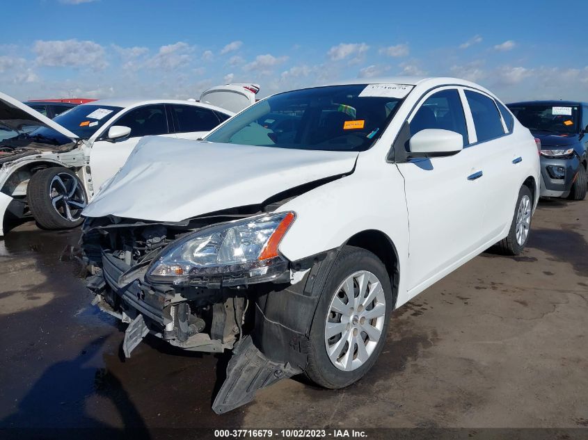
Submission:
[[[100,127],[104,125],[104,122],[121,110],[122,107],[84,104],[82,106],[70,108],[70,110],[61,113],[61,115],[54,118],[54,121],[61,125],[61,127],[76,134],[79,138],[88,139],[97,131],[97,129],[100,129]],[[47,127],[39,127],[35,131],[31,131],[29,134],[31,136],[52,138],[59,136],[60,138],[64,138],[64,136],[61,136],[53,129]],[[71,142],[71,140],[67,140],[67,142]]]

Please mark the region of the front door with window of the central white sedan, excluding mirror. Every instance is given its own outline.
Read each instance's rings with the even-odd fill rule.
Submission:
[[[466,119],[462,99],[457,88],[436,89],[424,95],[408,117],[411,136],[423,129],[446,129],[460,133],[464,145],[453,156],[397,164],[405,180],[408,206],[411,296],[480,245],[484,193],[479,177],[484,157],[479,149],[468,147],[471,121]]]

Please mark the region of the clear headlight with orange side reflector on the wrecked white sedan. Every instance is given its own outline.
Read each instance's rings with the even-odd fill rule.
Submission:
[[[220,287],[273,279],[287,269],[278,245],[294,218],[292,212],[264,214],[188,234],[163,250],[147,280]]]

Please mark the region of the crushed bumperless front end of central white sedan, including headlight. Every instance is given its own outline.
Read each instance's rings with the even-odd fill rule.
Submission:
[[[292,221],[294,213],[244,209],[179,223],[88,218],[82,245],[93,303],[129,323],[123,342],[127,357],[148,333],[184,350],[232,350],[213,409],[218,414],[235,409],[251,401],[257,389],[306,366],[310,323],[337,250],[288,261],[276,250],[280,227],[287,229]],[[248,237],[245,227],[254,235]],[[219,236],[218,231],[224,232]],[[261,252],[252,247],[260,236]],[[212,261],[211,246],[223,252],[219,242],[227,240],[233,250],[269,257],[260,263],[239,250],[234,253],[246,263],[205,267],[202,261]],[[187,255],[186,243],[191,243],[188,254],[199,252],[200,266],[180,261]],[[173,279],[164,279],[166,274]]]

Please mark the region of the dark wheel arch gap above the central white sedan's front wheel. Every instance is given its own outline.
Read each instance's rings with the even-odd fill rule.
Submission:
[[[392,286],[392,307],[396,308],[400,282],[400,260],[390,237],[379,229],[365,229],[354,234],[345,245],[361,247],[375,254],[386,267]]]

